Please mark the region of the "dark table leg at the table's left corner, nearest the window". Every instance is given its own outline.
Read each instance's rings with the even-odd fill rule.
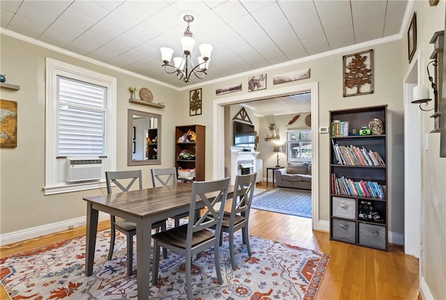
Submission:
[[[86,248],[85,248],[85,275],[93,274],[95,262],[96,234],[98,233],[98,210],[86,204]]]

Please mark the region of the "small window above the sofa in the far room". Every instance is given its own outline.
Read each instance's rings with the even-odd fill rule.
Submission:
[[[312,131],[290,130],[286,132],[287,161],[312,161]]]

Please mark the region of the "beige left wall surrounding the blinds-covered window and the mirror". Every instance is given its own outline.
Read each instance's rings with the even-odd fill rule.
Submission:
[[[45,57],[101,72],[117,79],[118,170],[143,170],[144,187],[151,187],[151,166],[127,166],[127,111],[137,109],[162,115],[162,166],[174,166],[174,125],[180,115],[178,90],[159,86],[121,72],[53,52],[43,47],[1,35],[1,72],[7,83],[20,90],[1,88],[1,99],[17,102],[17,148],[0,150],[0,233],[15,232],[85,216],[84,196],[106,189],[44,196],[45,185]],[[128,102],[129,86],[152,90],[165,109]],[[155,166],[160,167],[160,166]]]

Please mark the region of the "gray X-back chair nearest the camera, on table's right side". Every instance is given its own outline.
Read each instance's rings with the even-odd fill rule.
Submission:
[[[153,235],[153,276],[152,286],[157,286],[158,267],[160,266],[160,246],[169,248],[180,255],[184,255],[185,276],[187,287],[187,299],[192,300],[192,257],[214,247],[215,271],[217,281],[223,283],[222,271],[220,269],[220,230],[222,228],[222,216],[224,203],[228,194],[229,177],[222,180],[192,182],[192,194],[190,197],[189,223],[171,228],[167,231]],[[209,194],[208,194],[209,193]],[[207,196],[206,196],[207,194]],[[210,196],[211,195],[211,196]],[[195,218],[197,200],[203,201],[203,216]],[[215,205],[220,203],[220,210],[215,210]],[[201,207],[201,206],[198,206]],[[194,220],[194,221],[192,221]],[[215,232],[211,229],[215,228]]]

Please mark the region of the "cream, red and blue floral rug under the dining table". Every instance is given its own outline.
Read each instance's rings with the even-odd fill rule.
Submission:
[[[114,257],[107,261],[109,234],[109,230],[98,232],[92,276],[84,275],[83,236],[2,258],[1,283],[13,300],[136,299],[136,271],[129,277],[125,267],[125,236],[116,235]],[[250,237],[249,258],[241,235],[236,235],[237,270],[233,271],[227,237],[225,234],[220,249],[223,285],[217,283],[213,251],[205,251],[192,268],[194,299],[316,298],[330,255]],[[150,299],[187,297],[184,259],[170,251],[168,254],[160,261],[160,279],[156,287],[150,287]],[[136,259],[134,255],[134,269]]]

